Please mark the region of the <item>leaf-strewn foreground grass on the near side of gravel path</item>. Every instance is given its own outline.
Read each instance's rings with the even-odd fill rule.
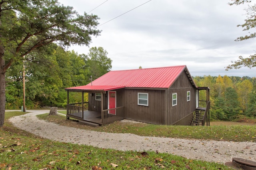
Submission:
[[[0,128],[0,169],[230,169],[222,164],[186,159],[166,153],[123,152],[43,139],[15,128],[7,121],[10,117],[20,114],[23,113],[6,113],[4,127]],[[118,166],[114,168],[115,164]]]

